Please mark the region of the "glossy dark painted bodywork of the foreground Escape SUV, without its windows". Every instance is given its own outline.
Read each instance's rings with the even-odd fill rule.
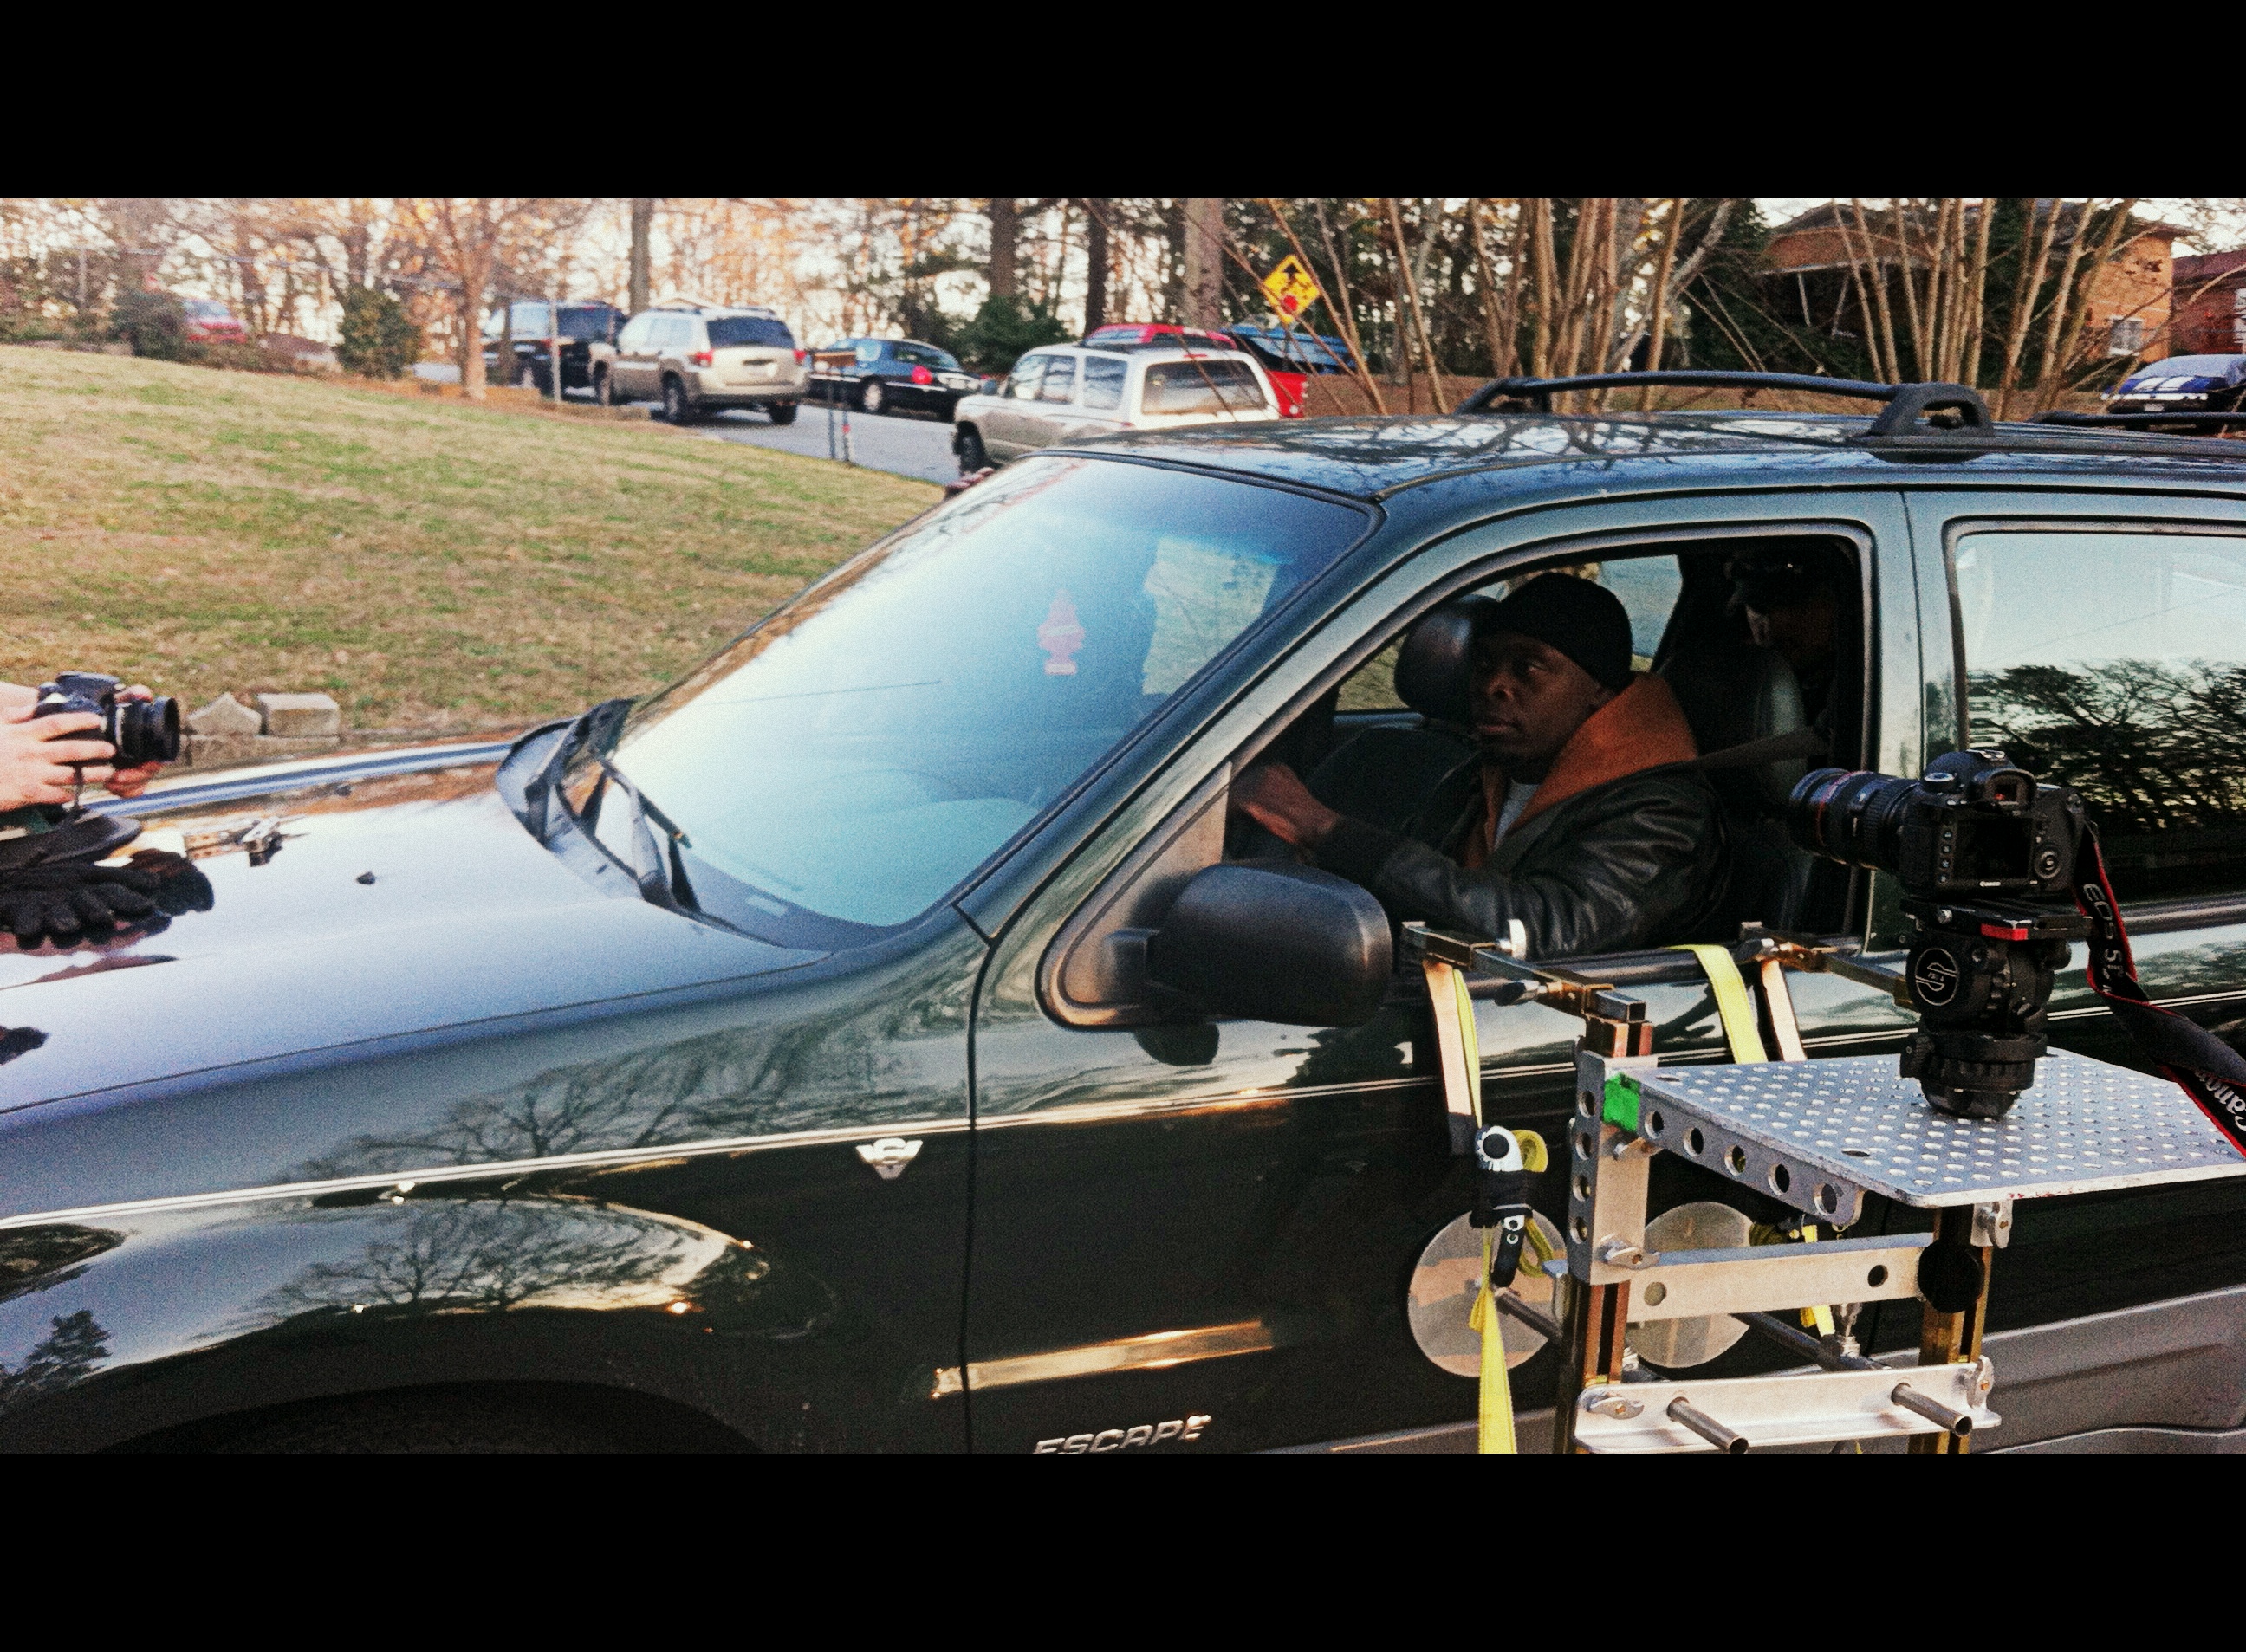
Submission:
[[[0,1028],[38,1032],[0,1064],[0,1448],[472,1383],[642,1396],[770,1450],[1154,1443],[1172,1421],[1166,1443],[1269,1448],[1471,1416],[1473,1383],[1404,1315],[1419,1248],[1471,1203],[1424,1001],[1399,988],[1363,1028],[1076,1026],[1040,972],[1235,752],[1507,568],[1846,534],[1873,615],[1866,759],[1916,772],[1954,743],[1961,525],[2246,530],[2235,465],[2111,440],[1898,462],[1860,431],[1402,417],[1085,449],[1357,501],[1368,532],[948,900],[856,949],[768,945],[588,875],[523,830],[490,752],[155,795],[150,828],[279,815],[294,835],[258,866],[200,860],[209,911],[162,931],[0,952]],[[1896,945],[1878,884],[1855,914],[1873,952]],[[2147,990],[2233,1030],[2246,900],[2134,918]],[[1633,990],[1664,1057],[1720,1059],[1705,985]],[[1799,979],[1797,1008],[1813,1053],[1911,1026],[1835,976]],[[2131,1059],[2080,976],[2055,1010],[2057,1041]],[[1482,1006],[1503,1122],[1559,1129],[1574,1032]],[[1664,1176],[1709,1196],[1702,1172]],[[2048,1349],[2082,1315],[2235,1318],[2242,1217],[2246,1183],[2024,1208],[1992,1327]],[[1911,1327],[1864,1331],[1900,1347]],[[1547,1385],[1539,1356],[1518,1403]],[[2136,1410],[2039,1403],[2037,1428],[2246,1419],[2237,1394],[2143,1389]]]

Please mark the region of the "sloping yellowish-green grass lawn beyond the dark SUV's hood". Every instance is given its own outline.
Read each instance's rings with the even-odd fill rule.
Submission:
[[[645,694],[928,483],[350,384],[0,350],[0,680],[483,729]]]

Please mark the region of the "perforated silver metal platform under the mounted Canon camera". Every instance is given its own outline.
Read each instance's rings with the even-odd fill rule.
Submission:
[[[1893,1055],[1631,1077],[1642,1136],[1839,1221],[1862,1192],[1938,1208],[2246,1176],[2181,1089],[2069,1053],[2044,1057],[2003,1118],[1936,1113]]]

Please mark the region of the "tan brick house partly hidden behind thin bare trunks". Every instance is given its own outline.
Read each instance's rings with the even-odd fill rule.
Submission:
[[[2051,209],[2053,202],[2042,202],[2044,213]],[[2057,211],[2060,224],[2051,245],[2051,276],[2057,276],[2066,263],[2066,249],[2082,222],[2082,202],[2057,202]],[[1979,204],[1965,209],[1967,247],[1974,240],[1979,215]],[[1795,321],[1799,312],[1804,325],[1822,328],[1837,337],[1862,337],[1866,321],[1860,316],[1862,299],[1851,276],[1848,251],[1853,245],[1857,263],[1878,265],[1880,278],[1889,283],[1889,310],[1900,341],[1905,312],[1896,272],[1909,263],[1914,272],[1920,272],[1920,281],[1925,278],[1925,269],[1932,263],[1934,224],[1914,218],[1907,224],[1907,249],[1896,240],[1893,218],[1884,209],[1866,213],[1866,229],[1871,231],[1869,254],[1866,236],[1860,236],[1855,229],[1855,213],[1837,202],[1813,206],[1772,229],[1768,249],[1770,267],[1763,276],[1770,312],[1786,321]],[[2170,341],[2170,292],[2179,263],[2172,247],[2183,231],[2176,224],[2145,220],[2136,220],[2131,231],[2120,242],[2113,260],[2091,274],[2089,321],[2082,330],[2084,357],[2134,355],[2156,361],[2179,348]],[[1990,301],[2001,303],[2001,294],[1992,292]],[[2001,346],[1997,348],[2001,350]],[[1988,352],[1983,352],[1985,361],[1990,361]]]

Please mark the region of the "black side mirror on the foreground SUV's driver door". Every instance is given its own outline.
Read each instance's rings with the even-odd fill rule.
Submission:
[[[1381,902],[1289,860],[1195,873],[1145,940],[1157,985],[1208,1015],[1289,1026],[1363,1026],[1393,970]]]

